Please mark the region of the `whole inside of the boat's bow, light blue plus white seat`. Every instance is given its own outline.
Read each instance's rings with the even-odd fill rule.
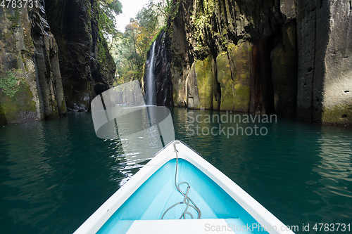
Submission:
[[[245,223],[258,225],[258,222],[218,184],[183,159],[179,159],[177,183],[189,183],[188,196],[201,210],[201,219],[191,219],[187,214],[187,219],[180,220],[187,206],[178,204],[161,220],[169,207],[184,200],[175,188],[175,162],[175,159],[170,160],[156,171],[98,233],[234,233],[236,230],[241,230],[241,233],[263,233],[259,228],[244,228],[247,227]],[[186,193],[187,185],[182,184],[180,189]],[[194,218],[198,216],[191,207],[187,211]]]

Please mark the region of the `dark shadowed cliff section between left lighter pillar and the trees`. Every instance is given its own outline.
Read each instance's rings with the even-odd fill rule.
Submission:
[[[106,91],[115,63],[99,35],[96,1],[45,0],[48,22],[57,44],[63,91],[69,110],[88,110],[90,101]]]

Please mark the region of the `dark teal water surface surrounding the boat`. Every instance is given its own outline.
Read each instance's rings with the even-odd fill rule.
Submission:
[[[214,114],[224,112],[192,117]],[[298,226],[296,233],[308,233],[302,230],[308,223],[310,233],[315,223],[352,225],[352,129],[278,118],[257,124],[266,136],[189,136],[196,129],[187,129],[186,110],[172,115],[176,138],[285,224]],[[205,133],[217,126],[199,123]],[[0,233],[73,233],[145,164],[127,166],[121,150],[96,138],[90,113],[1,127]]]

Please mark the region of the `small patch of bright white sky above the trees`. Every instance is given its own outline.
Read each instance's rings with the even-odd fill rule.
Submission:
[[[118,30],[125,32],[125,27],[130,22],[130,18],[134,18],[148,1],[149,0],[120,0],[122,13],[116,17],[116,27]]]

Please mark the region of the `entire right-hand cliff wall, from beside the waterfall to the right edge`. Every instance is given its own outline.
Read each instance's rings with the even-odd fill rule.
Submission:
[[[174,6],[165,35],[173,105],[352,123],[351,1]]]

